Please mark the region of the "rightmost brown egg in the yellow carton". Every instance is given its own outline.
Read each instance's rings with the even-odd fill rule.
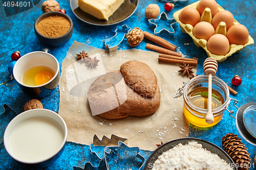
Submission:
[[[249,32],[242,24],[236,24],[227,31],[227,39],[230,44],[244,45],[249,40]]]

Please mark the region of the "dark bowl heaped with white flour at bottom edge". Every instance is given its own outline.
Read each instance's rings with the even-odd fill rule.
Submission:
[[[180,138],[162,144],[146,161],[144,170],[237,170],[228,154],[199,138]]]

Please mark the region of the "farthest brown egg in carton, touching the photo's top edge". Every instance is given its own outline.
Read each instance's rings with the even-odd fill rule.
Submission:
[[[203,14],[205,8],[210,9],[212,17],[219,11],[218,4],[215,0],[201,0],[197,6],[197,10],[199,11],[200,15]]]

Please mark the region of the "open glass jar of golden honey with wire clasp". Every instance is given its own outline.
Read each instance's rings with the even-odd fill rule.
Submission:
[[[183,95],[183,112],[188,122],[202,128],[218,124],[231,100],[226,83],[215,76],[212,77],[211,111],[214,115],[212,124],[205,121],[208,111],[208,76],[197,76],[188,83],[183,83],[184,86],[176,92],[175,98]]]

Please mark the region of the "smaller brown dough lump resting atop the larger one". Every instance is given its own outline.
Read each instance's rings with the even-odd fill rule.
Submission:
[[[120,67],[125,83],[147,97],[152,97],[157,90],[157,77],[154,71],[143,62],[127,61]]]

